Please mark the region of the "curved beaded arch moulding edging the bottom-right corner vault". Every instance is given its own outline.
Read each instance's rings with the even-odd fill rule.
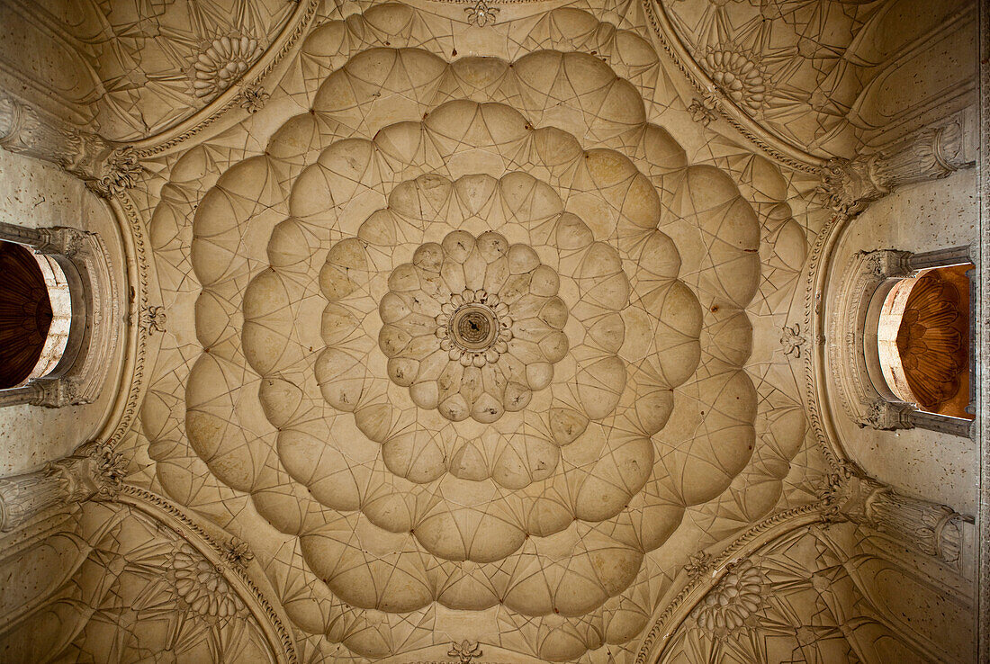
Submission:
[[[825,511],[829,507],[828,502],[821,501],[779,512],[756,523],[734,539],[705,568],[705,573],[687,580],[677,595],[667,602],[663,612],[656,618],[653,626],[640,642],[640,650],[635,660],[636,664],[651,664],[659,661],[667,641],[673,636],[677,627],[729,572],[728,568],[732,563],[748,557],[757,549],[792,530],[810,523],[826,522],[828,516]],[[675,578],[674,584],[676,585],[677,579],[686,579],[687,577],[687,571],[682,571]]]

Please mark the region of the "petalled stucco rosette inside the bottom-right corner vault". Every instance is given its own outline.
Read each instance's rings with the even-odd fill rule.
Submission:
[[[725,636],[759,609],[762,588],[762,572],[751,560],[743,559],[691,611],[691,617],[714,636]]]

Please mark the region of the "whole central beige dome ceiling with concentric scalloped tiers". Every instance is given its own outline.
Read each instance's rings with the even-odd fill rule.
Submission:
[[[325,17],[149,166],[148,482],[247,540],[313,657],[625,661],[815,463],[776,341],[813,183],[702,135],[642,26],[468,17]]]

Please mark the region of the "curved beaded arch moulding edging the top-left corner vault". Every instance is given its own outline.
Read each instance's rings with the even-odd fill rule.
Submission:
[[[175,127],[132,143],[138,157],[143,159],[160,154],[201,133],[238,105],[242,88],[257,85],[270,74],[307,31],[321,5],[321,0],[296,1],[299,2],[299,6],[294,10],[282,32],[238,82]]]

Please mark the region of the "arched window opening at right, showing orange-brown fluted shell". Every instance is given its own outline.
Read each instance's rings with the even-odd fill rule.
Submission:
[[[972,264],[926,269],[887,293],[877,325],[884,381],[933,415],[972,420],[969,278]]]

